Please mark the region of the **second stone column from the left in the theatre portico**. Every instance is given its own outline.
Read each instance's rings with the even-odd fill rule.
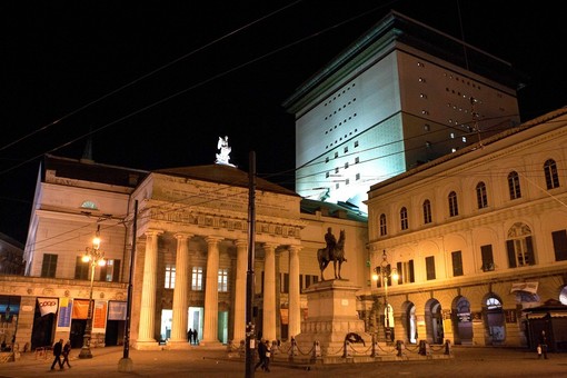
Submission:
[[[189,251],[188,239],[191,235],[177,233],[177,257],[176,257],[176,286],[173,289],[173,320],[171,324],[171,340],[168,345],[187,346],[187,290],[189,287]]]

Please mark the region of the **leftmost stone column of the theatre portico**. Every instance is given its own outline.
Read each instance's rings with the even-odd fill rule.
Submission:
[[[142,344],[156,344],[156,281],[158,269],[158,236],[162,231],[146,232],[146,256],[143,259],[143,280],[141,290],[140,325],[138,331],[138,347]]]

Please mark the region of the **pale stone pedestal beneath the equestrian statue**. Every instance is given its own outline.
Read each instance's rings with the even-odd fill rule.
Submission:
[[[358,334],[364,345],[350,344],[347,357],[357,352],[369,355],[372,337],[365,332],[365,321],[358,318],[356,308],[356,292],[360,288],[349,280],[335,279],[317,282],[305,290],[309,314],[307,320],[301,322],[301,334],[295,337],[300,352],[315,350],[314,345],[319,342],[320,355],[311,359],[324,364],[345,362],[345,338],[347,334]]]

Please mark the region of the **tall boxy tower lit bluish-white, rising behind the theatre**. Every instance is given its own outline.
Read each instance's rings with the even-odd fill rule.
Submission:
[[[366,212],[371,185],[519,122],[509,63],[391,12],[284,103],[296,191]]]

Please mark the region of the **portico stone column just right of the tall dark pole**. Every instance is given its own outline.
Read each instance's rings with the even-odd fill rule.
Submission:
[[[262,337],[276,340],[276,247],[265,243]]]

